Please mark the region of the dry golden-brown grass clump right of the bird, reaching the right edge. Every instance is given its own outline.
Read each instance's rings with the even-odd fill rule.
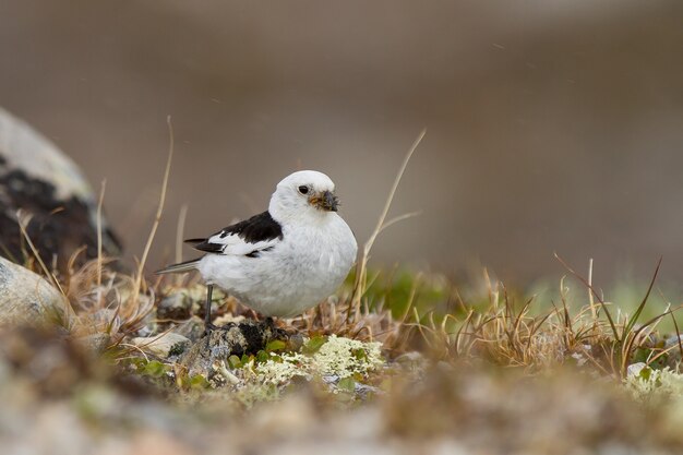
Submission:
[[[681,357],[674,354],[681,346],[664,347],[664,336],[658,334],[657,325],[680,307],[642,321],[655,278],[637,306],[623,308],[632,308],[632,313],[615,309],[597,294],[600,311],[590,299],[571,304],[564,278],[560,282],[559,304],[539,302],[537,297],[517,304],[505,287],[489,279],[486,271],[484,280],[488,304],[483,309],[460,301],[459,314],[428,310],[420,315],[417,309],[414,311],[406,324],[415,327],[432,355],[440,359],[482,359],[529,372],[574,364],[580,359],[615,380],[626,375],[628,364],[637,357],[648,364],[671,358],[670,366],[678,368],[675,359]],[[589,287],[587,283],[578,276],[577,286]],[[678,333],[678,325],[674,327]]]

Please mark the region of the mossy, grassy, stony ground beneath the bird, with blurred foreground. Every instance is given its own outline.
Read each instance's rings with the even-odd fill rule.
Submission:
[[[230,328],[205,337],[201,284],[97,267],[58,277],[71,315],[0,334],[3,453],[683,447],[678,324],[645,316],[647,299],[589,298],[589,278],[553,306],[484,274],[466,289],[371,272],[275,326],[217,292]]]

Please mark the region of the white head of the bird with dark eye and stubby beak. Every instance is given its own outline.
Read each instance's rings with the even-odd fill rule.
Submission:
[[[339,200],[329,177],[315,170],[300,170],[283,179],[271,199],[271,213],[277,219],[325,216],[336,212]]]

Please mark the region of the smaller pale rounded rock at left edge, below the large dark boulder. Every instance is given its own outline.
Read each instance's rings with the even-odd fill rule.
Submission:
[[[59,316],[65,298],[29,270],[0,258],[0,325],[36,324]]]

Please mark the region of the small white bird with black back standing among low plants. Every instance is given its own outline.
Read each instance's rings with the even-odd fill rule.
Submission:
[[[200,273],[205,333],[217,328],[211,318],[214,286],[271,321],[299,315],[334,294],[356,262],[356,237],[338,207],[329,177],[293,172],[277,183],[265,212],[185,240],[205,254],[156,273]]]

